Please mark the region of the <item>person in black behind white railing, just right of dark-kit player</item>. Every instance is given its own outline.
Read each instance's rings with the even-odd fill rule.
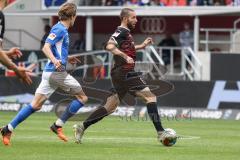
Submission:
[[[158,44],[159,47],[175,47],[176,41],[173,39],[172,34],[170,32],[166,32],[165,38]],[[162,59],[165,65],[170,63],[170,50],[163,49],[162,50]]]

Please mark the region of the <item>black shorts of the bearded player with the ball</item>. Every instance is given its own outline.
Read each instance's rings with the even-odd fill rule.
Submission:
[[[121,67],[114,68],[111,71],[111,78],[113,84],[113,93],[117,93],[120,100],[122,100],[127,93],[135,96],[136,91],[140,91],[147,87],[146,82],[141,77],[140,72],[134,70],[126,71]]]

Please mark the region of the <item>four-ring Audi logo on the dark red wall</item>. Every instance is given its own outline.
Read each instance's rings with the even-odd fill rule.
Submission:
[[[163,17],[144,17],[140,23],[142,33],[163,33],[166,29],[166,20]]]

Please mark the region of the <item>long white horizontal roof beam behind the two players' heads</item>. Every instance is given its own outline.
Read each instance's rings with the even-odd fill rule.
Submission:
[[[207,16],[240,14],[240,7],[202,6],[202,7],[131,7],[138,16]],[[118,16],[122,7],[78,7],[78,16]],[[55,16],[58,7],[39,11],[6,11],[7,16]]]

